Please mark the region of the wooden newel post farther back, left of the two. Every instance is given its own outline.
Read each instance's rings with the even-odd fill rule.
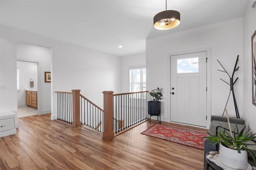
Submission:
[[[80,91],[81,90],[71,90],[72,91],[72,111],[73,111],[73,120],[72,127],[81,126],[80,121]]]

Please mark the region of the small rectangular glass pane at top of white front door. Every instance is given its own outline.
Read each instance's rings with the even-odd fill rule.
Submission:
[[[199,57],[178,59],[177,73],[199,72]]]

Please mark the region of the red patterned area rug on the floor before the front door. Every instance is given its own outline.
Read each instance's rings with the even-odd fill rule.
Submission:
[[[190,131],[187,129],[180,129],[177,127],[170,127],[166,125],[155,124],[142,132],[143,135],[157,137],[172,141],[189,147],[204,150],[204,138],[207,133]]]

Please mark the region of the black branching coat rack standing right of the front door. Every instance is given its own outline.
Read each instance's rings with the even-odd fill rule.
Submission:
[[[230,94],[231,94],[231,91],[232,91],[232,94],[233,94],[233,99],[234,99],[234,105],[235,105],[235,110],[236,110],[236,117],[237,118],[240,118],[239,116],[239,112],[238,112],[238,108],[237,108],[237,104],[236,104],[236,97],[235,97],[235,93],[234,93],[234,84],[236,83],[236,81],[238,80],[238,78],[236,78],[236,80],[234,81],[233,77],[234,77],[234,73],[239,69],[239,67],[236,68],[236,65],[238,63],[238,57],[239,55],[237,56],[236,58],[236,64],[235,64],[235,67],[234,67],[234,70],[233,70],[233,74],[232,74],[232,77],[230,77],[230,75],[228,74],[228,72],[225,70],[225,68],[222,66],[222,64],[220,64],[222,66],[222,68],[225,70],[225,71],[222,71],[222,70],[219,70],[219,71],[222,71],[222,72],[226,72],[228,74],[228,76],[230,77],[230,84],[228,84],[227,82],[225,82],[224,80],[222,80],[220,78],[220,80],[224,81],[226,84],[230,85],[230,92],[229,92],[229,95],[228,95],[228,99],[230,97]],[[217,60],[218,61],[218,60]],[[218,61],[219,62],[219,61]],[[220,62],[219,62],[220,63]],[[227,107],[227,104],[228,104],[228,100],[226,102],[226,106],[224,108],[224,111],[223,111],[223,114],[222,116],[224,115],[224,112],[225,112],[225,109]]]

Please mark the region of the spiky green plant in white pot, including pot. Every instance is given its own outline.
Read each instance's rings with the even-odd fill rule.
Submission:
[[[230,123],[228,121],[229,127]],[[246,169],[248,167],[247,164],[247,156],[248,153],[252,156],[254,160],[254,164],[256,165],[256,156],[254,154],[253,149],[248,147],[248,141],[251,141],[256,138],[256,133],[253,135],[250,134],[249,131],[244,132],[244,128],[239,131],[238,126],[236,125],[234,129],[234,133],[230,131],[230,134],[220,126],[220,129],[217,135],[212,135],[209,132],[207,137],[203,137],[214,143],[215,145],[219,145],[219,160],[224,165],[229,166],[230,168],[235,169]]]

